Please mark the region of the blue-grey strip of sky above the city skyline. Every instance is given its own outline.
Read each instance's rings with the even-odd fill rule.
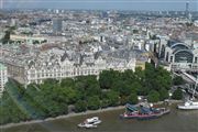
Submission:
[[[198,11],[198,0],[3,0],[3,8],[184,11],[187,1]]]

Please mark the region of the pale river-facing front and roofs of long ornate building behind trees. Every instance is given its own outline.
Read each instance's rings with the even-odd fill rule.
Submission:
[[[107,59],[101,56],[90,55],[75,55],[69,57],[68,54],[63,55],[47,53],[44,58],[32,59],[28,62],[26,70],[24,73],[26,84],[42,82],[46,78],[62,79],[66,77],[86,76],[86,75],[99,75],[105,69],[135,69],[135,58],[123,59],[109,57]]]

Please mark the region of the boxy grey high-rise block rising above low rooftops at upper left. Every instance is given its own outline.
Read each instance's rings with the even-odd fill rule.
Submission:
[[[55,18],[53,20],[53,33],[54,34],[61,34],[62,33],[62,26],[63,26],[62,19]]]

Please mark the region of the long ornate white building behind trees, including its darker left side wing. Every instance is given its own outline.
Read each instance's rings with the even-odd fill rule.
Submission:
[[[41,84],[44,79],[99,75],[105,69],[135,69],[136,58],[131,51],[113,52],[111,54],[69,53],[52,48],[37,55],[9,56],[4,58],[8,73],[22,84]]]

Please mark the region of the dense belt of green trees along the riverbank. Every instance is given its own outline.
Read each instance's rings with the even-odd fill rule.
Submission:
[[[68,106],[81,112],[138,103],[138,96],[156,102],[168,98],[170,84],[170,74],[152,64],[146,64],[144,70],[103,70],[99,77],[46,79],[43,84],[30,84],[26,89],[10,79],[0,99],[0,124],[67,114]],[[175,91],[174,98],[180,99],[180,91]]]

